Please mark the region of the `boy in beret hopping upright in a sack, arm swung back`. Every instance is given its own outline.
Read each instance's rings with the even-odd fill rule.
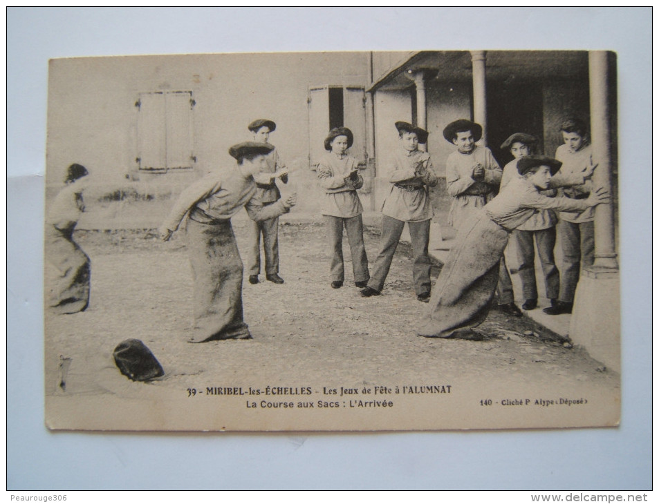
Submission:
[[[270,144],[243,142],[229,149],[237,164],[198,180],[180,194],[160,226],[167,241],[187,216],[187,238],[194,278],[193,343],[250,339],[243,322],[243,262],[231,227],[231,217],[245,207],[250,218],[263,221],[286,213],[295,195],[264,205],[255,197],[253,176],[266,167]]]

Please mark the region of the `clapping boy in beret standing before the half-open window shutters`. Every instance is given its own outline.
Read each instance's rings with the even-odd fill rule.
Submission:
[[[346,154],[353,144],[353,132],[348,128],[333,128],[325,139],[324,155],[317,174],[325,191],[322,213],[332,249],[331,286],[343,285],[343,229],[345,227],[353,260],[355,286],[364,288],[369,281],[369,261],[364,249],[362,203],[357,190],[364,184],[357,159]]]

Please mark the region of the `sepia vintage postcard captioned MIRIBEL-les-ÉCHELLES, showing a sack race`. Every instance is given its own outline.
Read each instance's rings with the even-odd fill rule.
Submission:
[[[46,425],[618,425],[615,58],[51,60]]]

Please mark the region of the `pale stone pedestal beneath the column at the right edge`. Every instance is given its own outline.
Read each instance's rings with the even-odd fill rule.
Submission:
[[[570,339],[595,360],[620,372],[620,274],[615,269],[582,271],[570,320]]]

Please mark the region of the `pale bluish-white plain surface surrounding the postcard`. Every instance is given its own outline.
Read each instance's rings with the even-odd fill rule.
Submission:
[[[8,8],[7,487],[651,488],[649,8]],[[51,434],[41,265],[48,59],[294,50],[618,52],[622,424],[387,434]]]

